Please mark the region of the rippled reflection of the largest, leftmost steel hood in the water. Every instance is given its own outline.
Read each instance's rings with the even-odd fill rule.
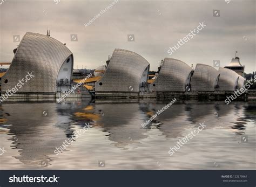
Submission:
[[[55,147],[60,146],[68,129],[68,117],[59,119],[55,103],[8,103],[2,105],[8,119],[8,134],[11,135],[12,148],[17,149],[16,159],[23,164],[51,164]],[[61,123],[60,128],[56,128]]]

